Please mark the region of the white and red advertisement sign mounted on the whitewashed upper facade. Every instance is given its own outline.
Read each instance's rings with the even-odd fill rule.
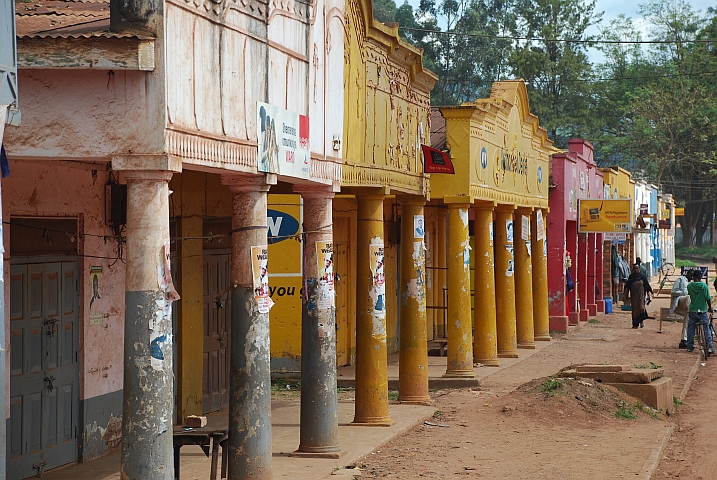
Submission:
[[[309,117],[257,102],[258,170],[309,178]]]

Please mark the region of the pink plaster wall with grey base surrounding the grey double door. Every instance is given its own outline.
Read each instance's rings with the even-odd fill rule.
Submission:
[[[117,242],[112,238],[112,230],[105,225],[108,173],[39,161],[13,161],[11,169],[12,174],[3,180],[3,220],[9,221],[11,216],[77,217],[81,233],[85,234],[78,238],[82,272],[80,428],[84,434],[83,454],[97,456],[116,446],[111,439],[109,443],[105,441],[105,433],[116,435],[109,422],[122,414],[125,265],[117,258]],[[8,225],[4,230],[5,245],[9,246],[12,231]],[[12,252],[6,251],[5,258],[12,258]],[[101,298],[96,299],[92,307],[90,266],[102,267]],[[6,298],[9,298],[7,290]],[[6,318],[9,318],[8,309],[9,303]],[[105,400],[96,401],[98,398]],[[104,413],[96,414],[100,410]]]

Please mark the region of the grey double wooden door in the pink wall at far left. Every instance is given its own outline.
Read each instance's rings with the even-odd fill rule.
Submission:
[[[78,289],[76,262],[11,266],[10,480],[77,461]]]

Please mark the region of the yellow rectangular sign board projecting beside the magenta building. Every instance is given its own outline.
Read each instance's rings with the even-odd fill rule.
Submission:
[[[578,232],[631,233],[632,200],[578,200]]]

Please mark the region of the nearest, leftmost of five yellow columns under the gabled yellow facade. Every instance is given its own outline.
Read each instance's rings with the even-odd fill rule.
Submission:
[[[474,377],[468,238],[470,203],[465,196],[446,197],[444,202],[448,203],[448,358],[443,376]]]

